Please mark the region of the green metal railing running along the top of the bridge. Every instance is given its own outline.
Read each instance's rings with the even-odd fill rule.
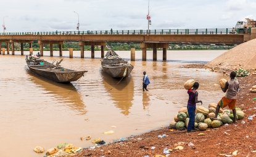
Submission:
[[[50,32],[19,32],[19,33],[0,33],[2,36],[23,36],[23,35],[85,35],[85,34],[234,34],[232,28],[214,29],[149,29],[149,30],[106,30],[106,31],[50,31]],[[250,33],[250,29],[247,30]]]

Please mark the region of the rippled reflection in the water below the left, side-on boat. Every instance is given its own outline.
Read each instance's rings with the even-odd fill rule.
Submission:
[[[29,75],[32,82],[34,82],[40,88],[44,88],[46,94],[53,95],[54,98],[57,98],[62,103],[70,107],[70,109],[75,110],[77,115],[85,115],[87,113],[86,105],[81,99],[80,93],[76,90],[75,86],[72,83],[56,83],[51,80],[44,79],[38,75],[33,74],[28,69],[26,69],[27,74]]]

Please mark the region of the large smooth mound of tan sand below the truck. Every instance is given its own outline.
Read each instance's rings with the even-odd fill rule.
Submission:
[[[205,66],[212,69],[256,69],[256,39],[237,45]]]

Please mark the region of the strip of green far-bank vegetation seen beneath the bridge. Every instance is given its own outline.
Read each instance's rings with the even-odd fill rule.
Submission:
[[[135,50],[141,50],[139,43],[119,43],[119,42],[107,42],[107,45],[113,50],[117,51],[130,51],[131,48]],[[20,51],[20,43],[14,44],[15,50]],[[39,51],[39,44],[32,44],[33,50]],[[229,50],[235,47],[235,45],[215,45],[215,44],[169,44],[168,50]],[[2,48],[6,48],[6,43],[2,43]],[[78,42],[64,42],[62,50],[67,51],[68,48],[73,48],[74,51],[80,51],[80,46]],[[162,48],[158,48],[162,50]],[[29,51],[29,44],[23,44],[23,50]],[[44,51],[49,51],[50,45],[44,44]],[[58,51],[59,45],[53,44],[53,50]],[[90,45],[85,45],[85,51],[91,50]],[[147,48],[147,50],[153,50],[152,48]],[[101,51],[101,46],[96,46],[95,51]]]

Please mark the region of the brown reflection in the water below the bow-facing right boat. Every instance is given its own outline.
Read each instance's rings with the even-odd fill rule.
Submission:
[[[114,101],[115,107],[121,109],[121,113],[124,115],[129,115],[129,109],[133,105],[132,101],[134,96],[133,78],[130,75],[129,77],[126,77],[122,80],[114,79],[105,72],[101,71],[101,73],[105,89]]]

